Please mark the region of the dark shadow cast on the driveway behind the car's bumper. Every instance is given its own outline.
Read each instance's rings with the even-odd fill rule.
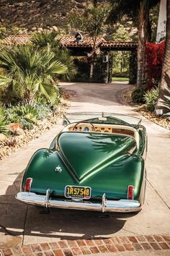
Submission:
[[[42,208],[25,205],[15,199],[22,175],[23,172],[17,176],[14,184],[6,189],[6,195],[0,196],[0,203],[3,206],[0,209],[0,237],[12,239],[19,236],[17,244],[22,244],[23,240],[27,243],[27,236],[32,236],[32,239],[34,236],[58,239],[94,239],[111,236],[122,229],[125,218],[134,215],[59,208],[51,208],[49,214],[42,214]],[[5,244],[8,244],[6,239]],[[3,239],[0,240],[3,247]]]

